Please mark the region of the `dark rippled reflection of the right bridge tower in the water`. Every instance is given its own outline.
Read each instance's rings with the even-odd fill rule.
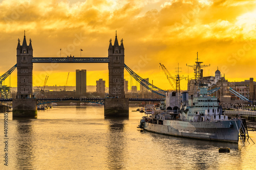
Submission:
[[[124,169],[126,137],[124,121],[128,118],[105,118],[109,122],[107,148],[107,166],[109,169]]]

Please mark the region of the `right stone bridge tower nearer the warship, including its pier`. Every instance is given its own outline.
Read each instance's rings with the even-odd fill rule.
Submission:
[[[129,99],[124,96],[124,46],[117,34],[114,45],[109,45],[109,96],[105,99],[105,116],[129,116]]]

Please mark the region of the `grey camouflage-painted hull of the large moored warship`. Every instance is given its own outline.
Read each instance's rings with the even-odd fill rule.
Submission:
[[[238,143],[241,120],[184,122],[164,120],[163,125],[144,123],[144,130],[188,138]]]

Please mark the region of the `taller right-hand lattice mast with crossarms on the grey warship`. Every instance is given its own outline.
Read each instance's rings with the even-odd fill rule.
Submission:
[[[194,74],[195,74],[194,94],[196,94],[198,85],[201,82],[201,76],[203,76],[203,75],[201,75],[201,68],[210,66],[210,64],[209,65],[201,65],[203,62],[200,62],[198,60],[199,60],[199,58],[198,58],[198,52],[197,52],[196,64],[194,64],[194,65],[186,64],[188,67],[192,67],[194,69]]]

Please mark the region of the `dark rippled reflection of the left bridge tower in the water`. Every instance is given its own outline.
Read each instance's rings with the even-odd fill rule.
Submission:
[[[15,118],[16,121],[16,165],[17,169],[33,168],[33,125],[31,119]]]

